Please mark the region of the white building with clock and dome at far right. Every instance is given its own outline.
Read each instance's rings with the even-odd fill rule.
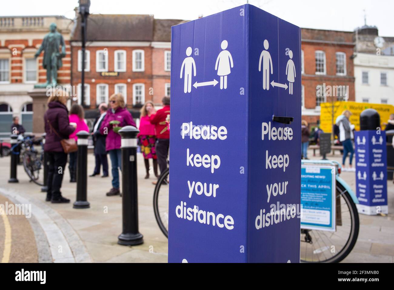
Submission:
[[[381,37],[367,25],[354,36],[356,101],[394,105],[394,37]]]

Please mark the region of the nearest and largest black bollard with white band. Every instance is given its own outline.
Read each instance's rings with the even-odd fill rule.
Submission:
[[[138,129],[125,126],[119,130],[122,136],[122,225],[119,245],[140,245],[143,236],[138,232],[138,186],[137,186],[137,134]]]

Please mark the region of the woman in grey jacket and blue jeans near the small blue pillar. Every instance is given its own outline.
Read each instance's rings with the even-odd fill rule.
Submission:
[[[352,167],[351,162],[353,160],[353,144],[351,140],[353,137],[353,129],[354,125],[352,125],[349,121],[351,116],[351,112],[349,110],[344,110],[342,115],[338,116],[335,120],[336,125],[339,127],[339,141],[342,142],[344,146],[344,153],[342,157],[342,168],[344,171],[355,171],[355,168]],[[345,168],[346,157],[349,155],[349,168]]]

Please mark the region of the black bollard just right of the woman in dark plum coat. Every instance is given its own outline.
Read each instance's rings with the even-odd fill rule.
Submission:
[[[89,208],[87,201],[87,144],[89,133],[79,131],[76,133],[78,137],[78,152],[76,157],[76,202],[73,208]]]

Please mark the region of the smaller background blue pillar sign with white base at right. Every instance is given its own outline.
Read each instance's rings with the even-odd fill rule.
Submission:
[[[357,131],[354,140],[357,210],[366,215],[388,213],[386,132]]]

